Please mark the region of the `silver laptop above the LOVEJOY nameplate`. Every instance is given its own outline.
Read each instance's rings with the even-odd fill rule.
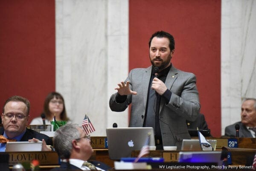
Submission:
[[[9,151],[42,151],[43,142],[7,142],[6,152]]]

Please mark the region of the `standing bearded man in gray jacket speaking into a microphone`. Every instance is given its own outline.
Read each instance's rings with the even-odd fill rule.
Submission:
[[[180,149],[182,140],[190,139],[186,119],[194,121],[200,110],[195,75],[172,65],[174,52],[173,36],[155,32],[149,40],[152,66],[131,70],[109,101],[116,112],[132,103],[129,127],[153,127],[157,149]]]

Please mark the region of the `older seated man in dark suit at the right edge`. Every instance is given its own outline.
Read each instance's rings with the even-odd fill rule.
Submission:
[[[241,122],[225,128],[225,136],[236,137],[235,125],[239,125],[239,137],[255,138],[256,131],[256,99],[245,98],[241,106]]]

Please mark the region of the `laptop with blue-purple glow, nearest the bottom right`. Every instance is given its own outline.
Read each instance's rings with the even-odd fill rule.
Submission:
[[[178,162],[222,165],[221,151],[180,151]]]

